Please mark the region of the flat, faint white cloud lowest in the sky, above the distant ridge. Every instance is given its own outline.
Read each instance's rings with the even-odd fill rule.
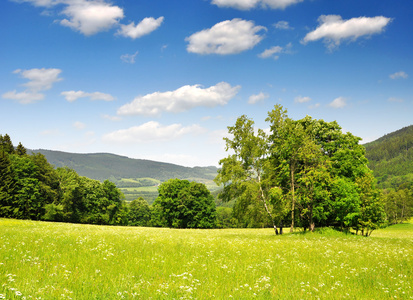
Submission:
[[[171,124],[163,126],[158,122],[150,121],[140,126],[113,131],[103,136],[105,142],[116,143],[149,143],[175,140],[187,134],[200,134],[205,130],[199,125],[182,126]]]

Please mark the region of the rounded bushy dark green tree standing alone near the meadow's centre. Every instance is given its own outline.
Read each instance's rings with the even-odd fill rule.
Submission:
[[[170,228],[214,228],[214,198],[205,184],[170,179],[158,188],[154,207],[163,226]]]

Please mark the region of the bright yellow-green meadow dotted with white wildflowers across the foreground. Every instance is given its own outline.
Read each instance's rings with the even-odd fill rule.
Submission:
[[[413,299],[413,224],[176,230],[0,219],[0,299]]]

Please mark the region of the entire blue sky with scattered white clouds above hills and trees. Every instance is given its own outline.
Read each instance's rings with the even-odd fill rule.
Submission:
[[[413,124],[411,0],[3,0],[0,133],[30,149],[218,165],[227,126]]]

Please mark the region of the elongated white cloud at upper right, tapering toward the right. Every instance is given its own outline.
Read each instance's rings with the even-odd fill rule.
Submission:
[[[343,20],[338,15],[322,15],[318,18],[319,26],[304,37],[303,44],[323,39],[330,50],[338,47],[342,40],[356,40],[361,36],[381,33],[391,21],[383,16],[359,17]]]

